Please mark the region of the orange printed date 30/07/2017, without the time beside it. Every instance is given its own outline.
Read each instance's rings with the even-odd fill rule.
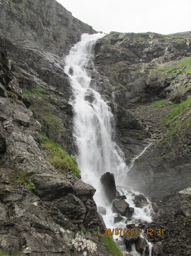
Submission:
[[[123,235],[123,236],[133,236],[133,235],[141,235],[141,231],[142,231],[142,228],[113,228],[113,229],[110,229],[110,228],[105,228],[104,229],[104,235],[107,236],[107,235]]]

